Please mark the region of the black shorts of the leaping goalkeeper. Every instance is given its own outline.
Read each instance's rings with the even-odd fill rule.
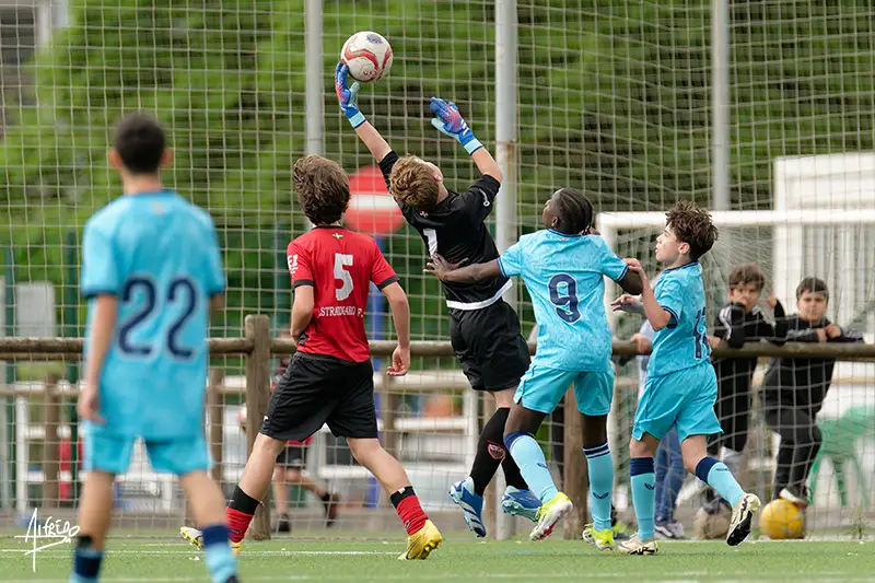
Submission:
[[[520,318],[503,300],[482,310],[451,310],[450,341],[475,390],[512,388],[528,370]]]

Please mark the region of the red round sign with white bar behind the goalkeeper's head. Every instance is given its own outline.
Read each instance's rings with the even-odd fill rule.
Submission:
[[[390,235],[404,224],[404,214],[386,189],[380,166],[359,168],[349,177],[352,199],[343,222],[353,231],[371,236]]]

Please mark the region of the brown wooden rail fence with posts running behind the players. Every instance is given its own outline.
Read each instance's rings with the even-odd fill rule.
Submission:
[[[392,355],[396,343],[393,341],[372,341],[371,353],[377,358]],[[82,338],[0,338],[0,361],[65,361],[81,360],[84,341]],[[535,352],[535,343],[529,343],[529,350]],[[270,360],[276,355],[292,354],[295,352],[294,343],[287,338],[270,338],[270,323],[267,316],[249,315],[245,319],[245,336],[242,338],[211,338],[209,340],[210,354],[244,355],[246,361],[246,404],[247,404],[247,454],[252,452],[255,439],[261,428],[261,421],[267,412],[270,392]],[[448,358],[454,357],[450,342],[445,341],[417,341],[412,342],[410,352],[413,358]],[[618,355],[635,355],[635,346],[631,342],[614,342],[614,353]],[[875,362],[875,345],[830,345],[830,343],[786,343],[778,347],[773,345],[748,345],[740,350],[718,348],[716,357],[789,357],[789,358],[833,358],[841,361]],[[395,453],[398,443],[396,428],[397,390],[394,387],[411,390],[446,390],[462,389],[463,385],[453,381],[432,380],[423,385],[408,385],[404,380],[393,380],[383,375],[376,383],[384,394],[384,405],[381,410],[384,445],[388,452]],[[458,385],[458,386],[457,386]],[[223,441],[223,397],[228,394],[240,394],[242,388],[225,386],[221,369],[213,369],[209,375],[207,392],[207,407],[209,410],[209,428],[211,454],[215,460],[212,475],[214,478],[222,476],[222,441]],[[43,398],[44,433],[44,500],[46,503],[56,503],[59,499],[59,434],[63,397],[72,398],[78,394],[77,385],[60,383],[57,376],[47,376],[43,387],[32,386],[0,386],[0,396],[40,396]],[[485,411],[491,410],[490,404],[483,404]],[[586,459],[581,448],[582,427],[580,416],[575,415],[576,405],[573,390],[569,390],[565,398],[565,475],[564,489],[575,503],[578,510],[567,523],[567,537],[580,536],[586,516]],[[488,417],[488,416],[487,416]],[[20,478],[22,479],[22,478]],[[492,493],[493,495],[493,493]],[[270,537],[269,501],[259,506],[249,536],[255,539]],[[490,505],[491,508],[491,505]],[[490,518],[493,516],[490,515]]]

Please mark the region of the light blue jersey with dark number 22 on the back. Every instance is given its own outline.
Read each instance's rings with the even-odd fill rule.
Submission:
[[[209,299],[225,289],[210,215],[172,191],[121,197],[85,224],[82,294],[118,299],[92,431],[147,440],[202,434]],[[85,346],[88,352],[89,346]]]

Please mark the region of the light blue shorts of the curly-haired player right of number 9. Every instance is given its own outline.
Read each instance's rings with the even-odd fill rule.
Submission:
[[[650,376],[638,403],[632,438],[662,440],[673,427],[680,441],[690,435],[723,433],[714,413],[718,377],[710,362],[662,376]]]

